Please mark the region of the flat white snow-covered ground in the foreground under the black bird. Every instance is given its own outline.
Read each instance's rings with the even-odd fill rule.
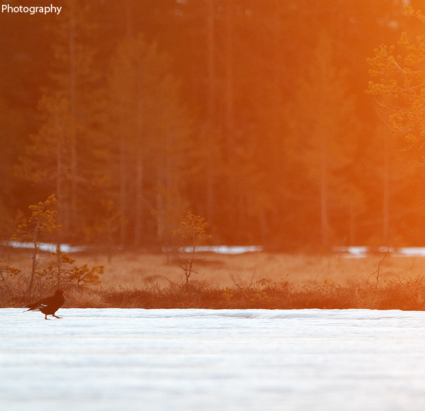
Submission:
[[[0,309],[1,410],[425,410],[425,312]]]

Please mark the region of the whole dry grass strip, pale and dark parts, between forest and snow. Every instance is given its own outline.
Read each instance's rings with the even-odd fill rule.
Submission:
[[[123,252],[110,258],[82,253],[73,256],[76,265],[104,264],[103,284],[65,287],[66,307],[425,310],[424,258],[384,256],[208,253],[185,286],[182,270],[169,264],[164,253]],[[9,250],[2,258],[29,270],[30,251]],[[48,265],[51,258],[42,254],[40,262]],[[25,303],[22,292],[6,296],[4,284],[0,286],[0,306]],[[47,292],[42,286],[37,291]]]

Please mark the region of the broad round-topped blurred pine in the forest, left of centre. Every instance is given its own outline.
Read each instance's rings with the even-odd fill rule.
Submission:
[[[156,221],[154,238],[184,206],[183,169],[190,162],[189,114],[171,74],[169,56],[142,35],[127,36],[112,56],[108,95],[110,121],[119,153],[121,242],[140,246]],[[153,217],[153,219],[152,219]],[[152,232],[151,232],[152,234]]]

